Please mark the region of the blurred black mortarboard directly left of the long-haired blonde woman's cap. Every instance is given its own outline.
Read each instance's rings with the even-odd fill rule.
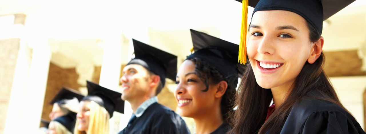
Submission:
[[[74,97],[76,97],[80,101],[84,96],[74,89],[62,87],[50,104],[56,102],[60,104],[66,104],[68,100],[72,100],[74,99]]]

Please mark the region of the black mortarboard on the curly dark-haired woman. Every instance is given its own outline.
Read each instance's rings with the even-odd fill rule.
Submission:
[[[187,59],[198,57],[214,66],[224,77],[238,77],[239,45],[191,29],[194,53]]]

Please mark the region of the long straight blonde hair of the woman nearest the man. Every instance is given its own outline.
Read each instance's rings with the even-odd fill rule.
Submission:
[[[109,113],[104,107],[90,101],[89,126],[87,133],[79,131],[79,119],[76,119],[74,134],[109,134]]]

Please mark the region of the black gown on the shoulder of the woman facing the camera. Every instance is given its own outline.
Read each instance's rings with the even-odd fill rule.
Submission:
[[[356,119],[334,103],[303,99],[295,104],[280,134],[366,134]]]

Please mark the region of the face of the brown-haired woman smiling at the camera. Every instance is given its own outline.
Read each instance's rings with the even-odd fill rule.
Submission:
[[[300,15],[283,10],[254,13],[247,54],[262,88],[290,89],[311,48],[309,29]]]

